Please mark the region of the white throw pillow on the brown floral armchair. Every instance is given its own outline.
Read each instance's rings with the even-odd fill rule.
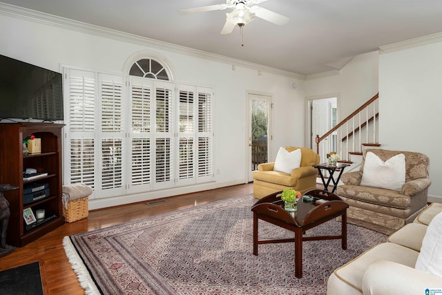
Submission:
[[[361,185],[367,187],[381,187],[400,191],[405,183],[405,155],[400,153],[383,162],[381,158],[367,152]]]

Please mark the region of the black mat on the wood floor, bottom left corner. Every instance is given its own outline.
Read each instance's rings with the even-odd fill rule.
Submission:
[[[38,262],[0,272],[1,295],[43,295]]]

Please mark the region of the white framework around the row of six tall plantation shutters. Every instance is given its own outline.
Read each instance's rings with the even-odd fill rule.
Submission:
[[[64,183],[75,183],[75,182],[84,182],[86,184],[91,185],[91,187],[94,188],[94,193],[92,196],[90,196],[90,199],[94,198],[112,198],[115,196],[124,196],[126,194],[131,193],[142,193],[142,192],[148,192],[148,191],[157,191],[160,189],[172,189],[174,187],[182,187],[187,185],[193,185],[193,184],[199,184],[204,182],[212,182],[215,180],[215,173],[214,173],[214,135],[213,132],[213,98],[214,98],[214,90],[210,87],[203,87],[203,86],[196,86],[196,85],[189,85],[189,84],[177,84],[175,82],[167,82],[164,80],[156,80],[156,79],[149,79],[149,78],[141,78],[141,77],[133,77],[133,76],[124,76],[124,75],[115,75],[115,74],[109,74],[109,73],[99,73],[95,72],[93,70],[88,69],[78,69],[78,68],[71,68],[71,67],[65,67],[65,97],[66,97],[66,104],[65,104],[65,123],[66,128],[64,129],[65,132],[65,142],[64,146],[66,146],[65,151],[66,154],[64,156]],[[93,130],[91,126],[86,124],[85,126],[82,126],[82,128],[86,128],[87,132],[84,130],[80,130],[79,128],[79,121],[81,118],[74,117],[75,120],[71,122],[70,112],[74,109],[73,106],[70,106],[72,102],[72,98],[70,97],[70,93],[72,93],[70,80],[73,79],[73,75],[77,75],[80,77],[81,75],[90,76],[90,79],[93,80],[93,87],[94,90],[90,92],[90,95],[93,95],[94,98],[94,111],[86,114],[83,114],[86,119],[86,123],[90,123],[90,120],[93,120]],[[78,78],[77,77],[77,78]],[[100,124],[102,122],[102,90],[100,87],[100,83],[102,79],[118,79],[119,82],[121,82],[122,85],[122,126],[121,130],[111,130],[112,132],[103,132],[102,129],[100,129]],[[145,132],[144,134],[133,132],[132,130],[132,124],[133,124],[133,96],[131,94],[131,91],[133,89],[133,82],[142,82],[145,86],[148,86],[151,91],[151,104],[149,105],[150,112],[155,113],[155,87],[163,87],[167,88],[170,91],[171,97],[169,100],[169,115],[170,117],[170,126],[167,132],[158,132],[157,130],[157,122],[155,120],[156,116],[154,113],[151,113],[151,117],[149,118],[148,122],[148,129],[150,129],[148,132]],[[193,119],[193,133],[187,134],[186,136],[191,138],[193,141],[193,158],[191,159],[191,165],[189,167],[185,167],[185,169],[191,169],[189,170],[191,174],[193,173],[192,177],[190,178],[181,178],[180,179],[180,91],[178,89],[191,89],[195,93],[193,97],[193,110],[191,111],[192,119]],[[211,126],[211,129],[209,132],[198,132],[198,122],[200,118],[198,117],[198,91],[203,91],[202,93],[206,93],[206,95],[209,95],[209,120],[211,122],[206,122]],[[207,94],[209,93],[209,94]],[[90,99],[90,97],[86,98]],[[89,104],[90,104],[89,100]],[[87,111],[87,110],[86,110]],[[89,116],[89,117],[88,117]],[[92,116],[92,117],[90,117]],[[204,119],[205,120],[205,119]],[[74,130],[72,130],[75,128]],[[162,130],[160,130],[162,131]],[[164,131],[164,130],[163,130]],[[207,159],[203,159],[206,162],[202,162],[200,159],[200,162],[203,165],[202,171],[204,171],[204,174],[199,174],[200,170],[199,167],[201,165],[200,162],[198,162],[198,157],[196,157],[199,154],[198,151],[198,140],[203,137],[205,142],[208,142],[209,144],[206,144],[204,146],[204,155],[208,157]],[[102,167],[103,159],[102,159],[102,150],[98,149],[97,146],[101,146],[103,140],[122,140],[121,143],[121,161],[122,161],[122,167],[121,167],[121,185],[112,187],[109,189],[104,189],[102,185],[102,175],[103,170],[100,168]],[[90,145],[93,145],[94,148],[92,151],[88,151],[88,154],[81,155],[82,149],[77,149],[77,154],[73,155],[73,151],[71,149],[71,144],[73,142],[77,142],[78,144],[84,144],[86,140],[86,144],[89,143]],[[134,140],[138,141],[145,141],[144,145],[137,146],[137,150],[134,149],[133,142]],[[168,178],[165,181],[157,182],[155,181],[155,169],[157,169],[157,165],[160,164],[160,162],[155,162],[160,155],[160,151],[157,151],[156,149],[156,142],[157,140],[160,140],[160,142],[168,142],[170,147],[170,153],[169,155],[164,155],[166,157],[170,157],[171,163],[169,166],[167,166],[167,169],[170,169],[168,173],[170,173],[170,178]],[[147,143],[146,143],[147,142]],[[143,162],[144,164],[148,164],[148,171],[147,173],[148,181],[142,182],[140,185],[133,183],[133,164],[134,164],[134,157],[137,155],[137,153],[144,153],[143,149],[146,149],[148,147],[148,158],[145,158]],[[89,147],[90,149],[90,147]],[[80,155],[80,156],[79,156]],[[75,157],[80,157],[77,159],[77,174],[79,172],[79,176],[76,176],[73,174],[73,171],[70,169],[75,162]],[[81,158],[82,157],[82,158]],[[89,160],[90,157],[94,158],[93,161],[93,167],[88,167],[88,170],[84,171],[84,166],[82,164],[85,162],[85,160]],[[74,159],[74,160],[73,160]],[[209,162],[207,162],[209,160]],[[206,166],[204,166],[206,165]],[[136,165],[135,165],[136,166]],[[138,163],[138,167],[140,167],[140,163]],[[164,168],[164,167],[163,167]],[[81,170],[81,171],[78,171]],[[91,171],[92,170],[92,171]],[[83,175],[82,173],[86,173]],[[89,178],[87,178],[89,177]]]

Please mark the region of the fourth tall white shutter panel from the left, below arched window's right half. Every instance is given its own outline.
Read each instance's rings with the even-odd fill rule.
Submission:
[[[153,189],[173,187],[173,84],[154,83],[155,182]]]

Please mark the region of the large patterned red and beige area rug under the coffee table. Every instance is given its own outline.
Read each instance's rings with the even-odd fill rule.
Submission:
[[[303,277],[294,244],[259,245],[253,256],[252,196],[229,198],[105,229],[66,236],[66,254],[86,294],[325,294],[333,270],[387,236],[347,227],[340,240],[303,242]],[[294,233],[260,220],[259,237]],[[340,234],[331,220],[307,236]]]

